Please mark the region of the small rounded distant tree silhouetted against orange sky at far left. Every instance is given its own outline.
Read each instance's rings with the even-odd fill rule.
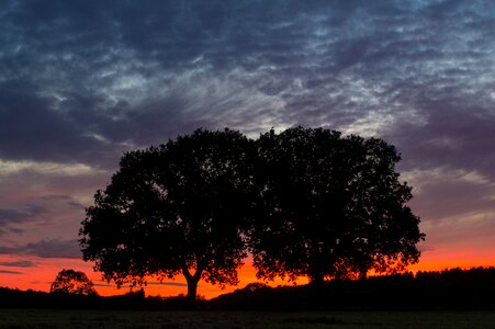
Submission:
[[[98,295],[91,280],[83,272],[75,270],[61,270],[58,272],[49,292],[87,296]]]

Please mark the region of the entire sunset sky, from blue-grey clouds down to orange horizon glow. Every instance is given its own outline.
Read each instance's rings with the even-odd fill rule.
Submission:
[[[493,31],[488,0],[0,1],[0,285],[125,293],[81,260],[85,208],[123,152],[199,127],[383,138],[426,234],[410,270],[495,265]]]

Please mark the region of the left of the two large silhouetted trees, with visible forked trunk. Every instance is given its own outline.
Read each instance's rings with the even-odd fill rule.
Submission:
[[[182,274],[188,297],[203,279],[236,284],[246,257],[239,224],[252,197],[252,141],[198,129],[124,155],[80,230],[83,258],[117,285]]]

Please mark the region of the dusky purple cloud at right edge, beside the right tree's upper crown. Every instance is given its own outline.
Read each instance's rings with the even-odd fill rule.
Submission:
[[[495,180],[495,113],[457,101],[425,102],[425,124],[401,123],[386,137],[401,147],[405,169],[462,168]]]

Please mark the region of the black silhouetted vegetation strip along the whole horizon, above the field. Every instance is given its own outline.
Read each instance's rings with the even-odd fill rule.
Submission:
[[[210,300],[185,296],[52,294],[0,287],[1,308],[101,310],[495,310],[495,268],[410,272],[365,280],[331,280],[314,285],[270,287],[250,283]],[[322,317],[322,316],[320,316]],[[299,320],[295,320],[299,321]],[[322,320],[323,321],[323,320]]]

